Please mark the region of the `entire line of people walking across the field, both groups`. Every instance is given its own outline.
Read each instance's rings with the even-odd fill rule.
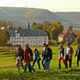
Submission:
[[[67,44],[66,49],[64,50],[63,44],[59,46],[59,59],[58,65],[59,69],[61,69],[61,61],[63,61],[65,68],[72,67],[72,56],[73,56],[73,48],[71,47],[70,43]],[[33,54],[34,53],[34,54]],[[80,44],[78,45],[75,53],[75,57],[77,56],[77,66],[79,66],[80,61]],[[40,61],[42,62],[42,66],[44,70],[49,71],[50,69],[50,62],[52,59],[52,49],[49,47],[48,44],[44,43],[42,49],[42,58],[40,57],[40,52],[37,48],[32,49],[30,48],[29,44],[26,44],[25,50],[22,49],[21,45],[18,45],[18,50],[16,53],[16,67],[17,70],[20,70],[20,66],[23,68],[24,72],[26,72],[27,68],[29,72],[35,71],[34,65],[37,62],[39,69],[41,69]],[[23,64],[25,62],[25,64]],[[68,65],[69,62],[69,65]]]

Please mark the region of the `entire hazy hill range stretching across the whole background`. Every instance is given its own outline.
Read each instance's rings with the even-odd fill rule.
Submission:
[[[28,21],[31,24],[55,20],[77,24],[80,23],[80,12],[50,12],[45,9],[0,7],[0,20],[8,20],[23,26],[26,26]]]

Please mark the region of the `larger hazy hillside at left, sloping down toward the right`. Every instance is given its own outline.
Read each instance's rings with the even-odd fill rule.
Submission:
[[[60,20],[59,17],[48,10],[34,8],[9,8],[0,7],[0,19],[5,19],[13,23],[26,25],[28,20],[30,23],[41,23],[45,20]]]

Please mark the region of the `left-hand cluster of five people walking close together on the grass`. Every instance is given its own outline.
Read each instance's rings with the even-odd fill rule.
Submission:
[[[49,48],[48,44],[44,43],[44,48],[42,50],[42,65],[46,71],[49,71],[50,69],[49,66],[51,59],[52,49]],[[21,45],[18,45],[18,50],[16,53],[16,67],[18,71],[20,70],[21,66],[24,72],[26,72],[27,68],[29,69],[29,72],[33,72],[35,71],[34,65],[36,62],[38,63],[39,69],[41,69],[40,61],[40,52],[37,48],[35,48],[34,52],[32,52],[32,49],[30,48],[29,44],[26,44],[25,50],[22,49]],[[23,64],[23,62],[25,62],[25,65]]]

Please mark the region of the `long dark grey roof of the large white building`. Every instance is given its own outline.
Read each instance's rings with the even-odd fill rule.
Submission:
[[[47,36],[47,33],[39,29],[9,29],[9,34],[15,36],[16,33],[19,33],[20,36]]]

